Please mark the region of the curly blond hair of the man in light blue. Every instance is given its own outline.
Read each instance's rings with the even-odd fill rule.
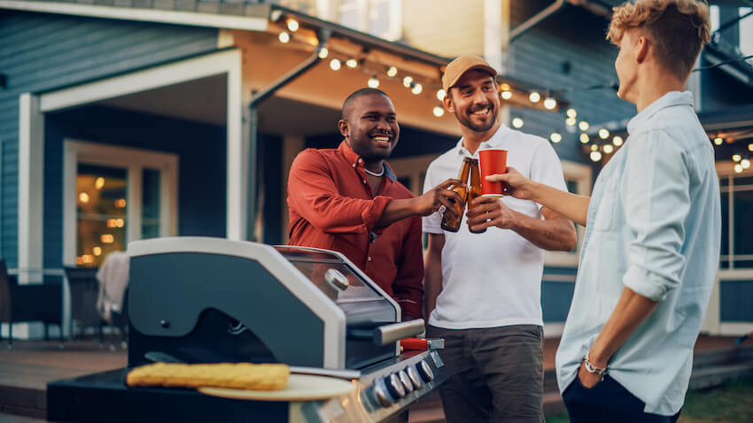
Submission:
[[[619,45],[625,31],[640,28],[656,59],[685,81],[709,42],[709,5],[696,0],[636,0],[613,9],[607,40]]]

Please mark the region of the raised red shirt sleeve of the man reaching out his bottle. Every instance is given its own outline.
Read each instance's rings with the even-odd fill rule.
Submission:
[[[330,168],[317,150],[302,151],[288,178],[288,205],[327,234],[368,234],[377,226],[388,196],[373,200],[341,196]]]

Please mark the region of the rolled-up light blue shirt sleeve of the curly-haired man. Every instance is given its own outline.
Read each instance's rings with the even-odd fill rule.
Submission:
[[[630,235],[625,287],[663,301],[679,288],[680,254],[690,210],[687,157],[664,131],[631,137],[620,183],[625,230]]]

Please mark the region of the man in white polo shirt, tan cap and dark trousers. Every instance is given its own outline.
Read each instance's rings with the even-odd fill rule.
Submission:
[[[565,190],[562,165],[548,142],[500,125],[496,71],[484,59],[460,57],[442,78],[444,104],[462,139],[426,171],[424,190],[454,177],[478,150],[508,150],[508,165]],[[441,389],[448,422],[540,422],[543,250],[572,250],[571,220],[512,197],[477,198],[457,233],[440,228],[439,212],[423,218],[427,335],[446,340],[439,354],[450,373]],[[474,230],[487,227],[483,234]]]

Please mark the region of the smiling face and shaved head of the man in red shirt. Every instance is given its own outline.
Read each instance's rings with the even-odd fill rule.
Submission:
[[[395,108],[381,94],[353,98],[338,127],[345,142],[367,162],[389,158],[400,137]]]

